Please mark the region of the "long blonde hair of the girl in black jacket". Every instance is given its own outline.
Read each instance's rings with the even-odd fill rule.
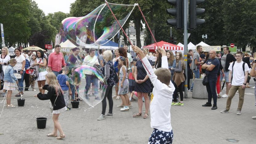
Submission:
[[[63,94],[63,91],[60,87],[60,84],[58,83],[58,80],[56,78],[56,75],[53,72],[50,72],[45,75],[49,79],[49,86],[51,88],[55,89],[55,93],[58,96],[59,94]]]

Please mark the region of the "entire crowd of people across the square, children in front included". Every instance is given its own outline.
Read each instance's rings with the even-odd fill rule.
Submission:
[[[239,104],[237,114],[240,115],[245,88],[250,87],[250,76],[254,77],[256,75],[256,64],[254,63],[253,56],[247,53],[243,54],[240,51],[235,55],[230,54],[228,47],[224,47],[222,54],[217,54],[216,51],[211,50],[205,55],[202,51],[202,46],[197,46],[196,52],[190,50],[188,52],[187,74],[185,73],[186,65],[181,52],[173,53],[172,51],[161,49],[156,50],[152,54],[149,53],[148,49],[141,50],[133,46],[134,52],[143,56],[140,59],[138,55],[137,57],[133,57],[128,53],[128,47],[126,45],[114,51],[102,50],[102,54],[98,54],[98,56],[95,55],[97,50],[90,48],[89,54],[86,56],[80,55],[81,57],[79,56],[80,49],[78,47],[73,48],[65,56],[60,52],[60,48],[59,45],[56,45],[55,51],[49,57],[42,50],[31,53],[28,51],[22,52],[16,48],[14,50],[16,57],[10,58],[7,47],[2,48],[2,54],[0,55],[0,66],[2,67],[0,78],[4,82],[1,96],[5,96],[7,90],[6,98],[10,98],[12,91],[15,90],[15,83],[17,83],[19,90],[19,93],[15,96],[23,96],[23,82],[25,81],[26,91],[29,90],[30,86],[32,90],[35,90],[34,85],[35,81],[37,81],[40,91],[37,97],[41,100],[50,99],[53,105],[53,121],[55,127],[53,133],[47,136],[55,137],[57,136],[57,130],[59,130],[60,136],[57,137],[58,139],[65,137],[58,122],[59,114],[66,110],[71,110],[68,106],[69,101],[81,100],[78,99],[79,79],[73,78],[74,70],[81,65],[97,67],[104,77],[102,81],[107,84],[106,93],[102,100],[102,113],[97,120],[113,117],[113,98],[122,100],[122,103],[117,106],[121,108],[120,111],[128,111],[132,107],[131,101],[134,101],[134,96],[137,96],[138,113],[134,114],[133,117],[149,118],[148,111],[151,101],[151,126],[158,130],[170,132],[170,134],[172,134],[171,126],[158,126],[157,123],[159,122],[156,122],[152,118],[158,116],[155,112],[159,113],[159,110],[163,109],[157,106],[157,102],[155,103],[155,107],[152,107],[153,99],[158,99],[159,95],[169,92],[169,94],[166,93],[169,95],[166,96],[166,100],[170,98],[172,100],[165,101],[166,105],[168,105],[166,107],[167,110],[170,110],[171,105],[184,106],[183,83],[186,78],[188,79],[188,90],[193,92],[194,83],[191,84],[190,79],[200,78],[204,74],[203,82],[206,85],[208,102],[202,106],[212,106],[211,109],[216,110],[217,98],[227,97],[226,109],[222,110],[221,113],[228,113],[231,99],[238,91]],[[254,54],[254,57],[256,57],[256,54]],[[167,68],[168,72],[163,68]],[[155,75],[157,76],[155,77]],[[86,95],[86,99],[90,99],[88,92],[92,85],[94,95],[96,96],[95,100],[101,100],[98,95],[98,89],[100,88],[98,77],[89,71],[86,71],[85,76],[86,85],[84,94]],[[226,94],[221,96],[221,82],[223,78],[224,83],[226,83]],[[169,85],[171,90],[168,88]],[[114,96],[112,96],[113,86],[115,87]],[[48,91],[47,94],[45,94],[45,90]],[[157,90],[160,93],[157,93]],[[128,96],[129,93],[130,97]],[[178,100],[178,97],[180,100]],[[109,111],[107,114],[106,98],[109,102]],[[212,99],[213,105],[211,103]],[[160,99],[156,101],[163,102]],[[146,109],[144,114],[142,114],[143,102],[145,102]],[[167,104],[168,102],[169,104]],[[10,99],[7,100],[6,106],[8,108],[15,107],[11,104]],[[154,111],[154,108],[158,110]],[[163,111],[163,113],[168,113],[165,110]],[[256,117],[253,118],[256,119]],[[169,119],[169,116],[166,119]],[[155,131],[155,133],[158,133],[158,131]],[[152,133],[151,138],[153,137],[154,134]],[[154,139],[152,140],[154,141]]]

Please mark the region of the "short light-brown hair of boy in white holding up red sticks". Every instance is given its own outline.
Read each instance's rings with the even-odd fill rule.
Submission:
[[[158,68],[155,71],[155,75],[157,76],[157,79],[166,84],[167,86],[170,84],[171,81],[171,72],[168,69],[164,69],[164,68]]]

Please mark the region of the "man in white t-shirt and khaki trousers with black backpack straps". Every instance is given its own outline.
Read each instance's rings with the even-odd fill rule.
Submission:
[[[236,61],[231,62],[229,65],[229,83],[228,86],[230,87],[228,98],[227,98],[227,104],[226,109],[222,110],[221,113],[228,113],[231,105],[231,100],[234,97],[236,91],[239,91],[239,102],[238,102],[238,108],[237,108],[237,115],[241,115],[241,109],[244,102],[244,92],[246,88],[246,81],[248,77],[248,71],[249,66],[247,63],[242,61],[243,53],[241,51],[238,51],[236,53]],[[233,65],[234,63],[234,65]],[[233,70],[234,69],[234,70]],[[233,73],[233,79],[231,83],[231,77]]]

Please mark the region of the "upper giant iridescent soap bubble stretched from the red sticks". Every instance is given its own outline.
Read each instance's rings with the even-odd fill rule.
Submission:
[[[125,24],[136,6],[136,4],[108,4],[121,26]],[[105,39],[111,40],[119,30],[121,28],[109,8],[106,4],[102,4],[84,17],[69,17],[64,19],[59,30],[60,42],[65,42],[69,39],[72,43],[90,48],[94,45],[105,44],[100,42]]]

